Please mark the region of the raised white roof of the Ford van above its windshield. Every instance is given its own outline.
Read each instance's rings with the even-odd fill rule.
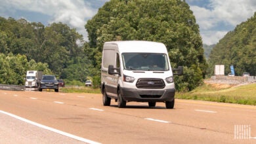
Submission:
[[[117,46],[110,46],[117,45]],[[104,49],[115,49],[120,53],[123,52],[154,52],[167,53],[167,49],[163,43],[152,41],[110,41],[104,43]]]

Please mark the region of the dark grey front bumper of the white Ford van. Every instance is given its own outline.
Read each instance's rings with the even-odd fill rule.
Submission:
[[[136,88],[121,88],[121,96],[126,101],[140,102],[163,102],[173,101],[175,97],[175,88],[159,90],[159,89],[136,89]]]

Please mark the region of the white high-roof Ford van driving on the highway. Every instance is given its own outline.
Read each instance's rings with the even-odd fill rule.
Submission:
[[[183,67],[174,69],[182,75]],[[167,49],[150,41],[112,41],[103,46],[101,84],[103,105],[116,99],[118,107],[128,101],[175,103],[175,84]]]

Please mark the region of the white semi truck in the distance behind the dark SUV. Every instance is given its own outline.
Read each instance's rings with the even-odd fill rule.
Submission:
[[[27,71],[26,90],[38,90],[39,82],[43,77],[43,71]]]

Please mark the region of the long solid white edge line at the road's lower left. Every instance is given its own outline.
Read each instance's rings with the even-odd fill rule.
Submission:
[[[33,124],[34,126],[38,126],[39,128],[43,128],[43,129],[45,129],[45,130],[50,130],[51,132],[55,132],[55,133],[57,133],[57,134],[61,134],[61,135],[67,136],[67,137],[70,137],[70,138],[72,138],[72,139],[77,139],[78,141],[83,141],[83,142],[85,142],[85,143],[91,143],[91,144],[100,144],[100,143],[98,143],[98,142],[96,142],[96,141],[91,141],[91,140],[89,140],[89,139],[85,139],[85,138],[83,138],[83,137],[79,137],[79,136],[76,136],[76,135],[72,135],[72,134],[69,134],[69,133],[67,133],[67,132],[62,132],[62,131],[60,131],[60,130],[56,130],[56,129],[51,128],[51,127],[49,127],[49,126],[44,126],[43,124],[38,124],[38,123],[33,122],[33,121],[31,121],[31,120],[27,120],[26,118],[18,117],[18,116],[16,116],[16,115],[13,115],[13,114],[11,114],[11,113],[7,113],[7,112],[5,112],[5,111],[1,111],[1,110],[0,110],[0,113],[3,113],[3,114],[5,114],[5,115],[9,115],[10,117],[16,118],[16,119],[18,119],[18,120],[22,120],[23,122],[27,122],[28,124]]]

